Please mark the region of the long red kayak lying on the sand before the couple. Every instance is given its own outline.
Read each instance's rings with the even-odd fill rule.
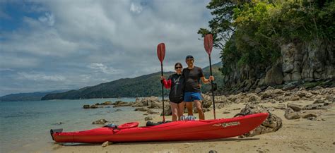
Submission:
[[[158,126],[138,127],[138,122],[125,123],[117,128],[102,127],[92,130],[63,133],[50,130],[56,142],[143,142],[211,140],[235,137],[257,128],[269,114],[259,113],[235,118],[199,121],[175,121]]]

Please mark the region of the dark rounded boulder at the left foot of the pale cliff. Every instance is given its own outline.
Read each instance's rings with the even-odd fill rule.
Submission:
[[[283,83],[283,72],[280,66],[273,66],[265,75],[266,85],[281,85]]]

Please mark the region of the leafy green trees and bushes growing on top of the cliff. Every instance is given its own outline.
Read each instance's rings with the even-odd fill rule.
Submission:
[[[288,42],[334,43],[334,1],[242,1],[213,0],[208,6],[214,16],[204,37],[213,34],[214,47],[221,49],[223,75],[236,68],[265,71],[281,57]]]

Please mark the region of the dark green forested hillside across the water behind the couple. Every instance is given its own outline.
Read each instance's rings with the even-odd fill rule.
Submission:
[[[221,87],[223,83],[223,76],[219,71],[221,66],[221,63],[216,63],[212,66],[213,75],[216,77],[218,87]],[[204,73],[206,78],[208,78],[209,67],[204,68]],[[171,74],[172,72],[164,73],[164,76],[167,78]],[[58,94],[47,94],[42,100],[161,96],[161,87],[160,72],[158,72],[142,75],[136,78],[114,80],[92,87],[83,87],[80,90],[70,90]],[[203,92],[208,92],[211,89],[211,85],[202,85],[201,88]],[[164,93],[165,96],[168,96],[169,90],[165,89]]]

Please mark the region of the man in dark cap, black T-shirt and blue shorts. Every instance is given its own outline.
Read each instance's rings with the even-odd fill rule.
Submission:
[[[187,68],[182,70],[182,75],[184,75],[185,79],[184,102],[186,103],[188,115],[193,116],[192,102],[194,102],[199,113],[199,119],[204,120],[205,115],[201,106],[202,97],[200,91],[200,79],[202,82],[204,82],[204,84],[207,84],[211,82],[211,80],[214,80],[214,77],[209,76],[209,78],[206,79],[202,69],[194,66],[193,56],[186,56],[185,61],[187,63]]]

